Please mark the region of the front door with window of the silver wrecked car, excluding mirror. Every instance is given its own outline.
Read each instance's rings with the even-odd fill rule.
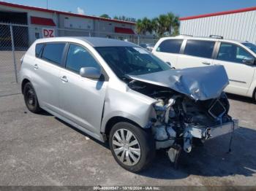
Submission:
[[[107,78],[81,77],[79,73],[82,67],[94,67],[102,71],[89,50],[79,44],[69,44],[66,68],[60,72],[61,112],[72,122],[92,133],[99,133]]]

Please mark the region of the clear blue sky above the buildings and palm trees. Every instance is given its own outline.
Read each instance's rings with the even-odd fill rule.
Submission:
[[[33,7],[47,7],[47,0],[5,0]],[[256,0],[48,0],[48,9],[99,16],[125,15],[136,19],[173,12],[179,17],[256,7]]]

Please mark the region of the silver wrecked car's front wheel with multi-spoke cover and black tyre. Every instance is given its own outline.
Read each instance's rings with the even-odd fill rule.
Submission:
[[[118,122],[110,131],[109,142],[116,162],[127,171],[142,171],[154,160],[155,144],[148,130]]]

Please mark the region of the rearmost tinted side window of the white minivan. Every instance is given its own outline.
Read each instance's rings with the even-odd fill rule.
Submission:
[[[157,47],[157,52],[169,52],[178,54],[181,50],[181,44],[183,39],[169,39],[163,41],[159,47]]]

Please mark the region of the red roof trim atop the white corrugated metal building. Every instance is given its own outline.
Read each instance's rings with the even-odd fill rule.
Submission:
[[[191,19],[203,18],[203,17],[214,17],[214,16],[219,16],[219,15],[228,15],[228,14],[233,14],[233,13],[238,13],[238,12],[249,12],[249,11],[255,11],[255,10],[256,10],[256,7],[249,7],[249,8],[236,9],[236,10],[231,10],[231,11],[214,12],[214,13],[209,13],[209,14],[204,14],[204,15],[195,15],[195,16],[191,16],[191,17],[181,17],[179,20],[191,20]]]

